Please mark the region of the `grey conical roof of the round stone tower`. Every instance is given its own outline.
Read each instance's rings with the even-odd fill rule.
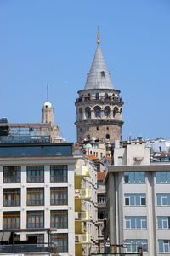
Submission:
[[[99,43],[94,55],[92,67],[88,73],[87,82],[84,87],[84,90],[89,89],[114,89],[111,82],[111,74],[108,72],[105,65],[105,59],[102,55]]]

